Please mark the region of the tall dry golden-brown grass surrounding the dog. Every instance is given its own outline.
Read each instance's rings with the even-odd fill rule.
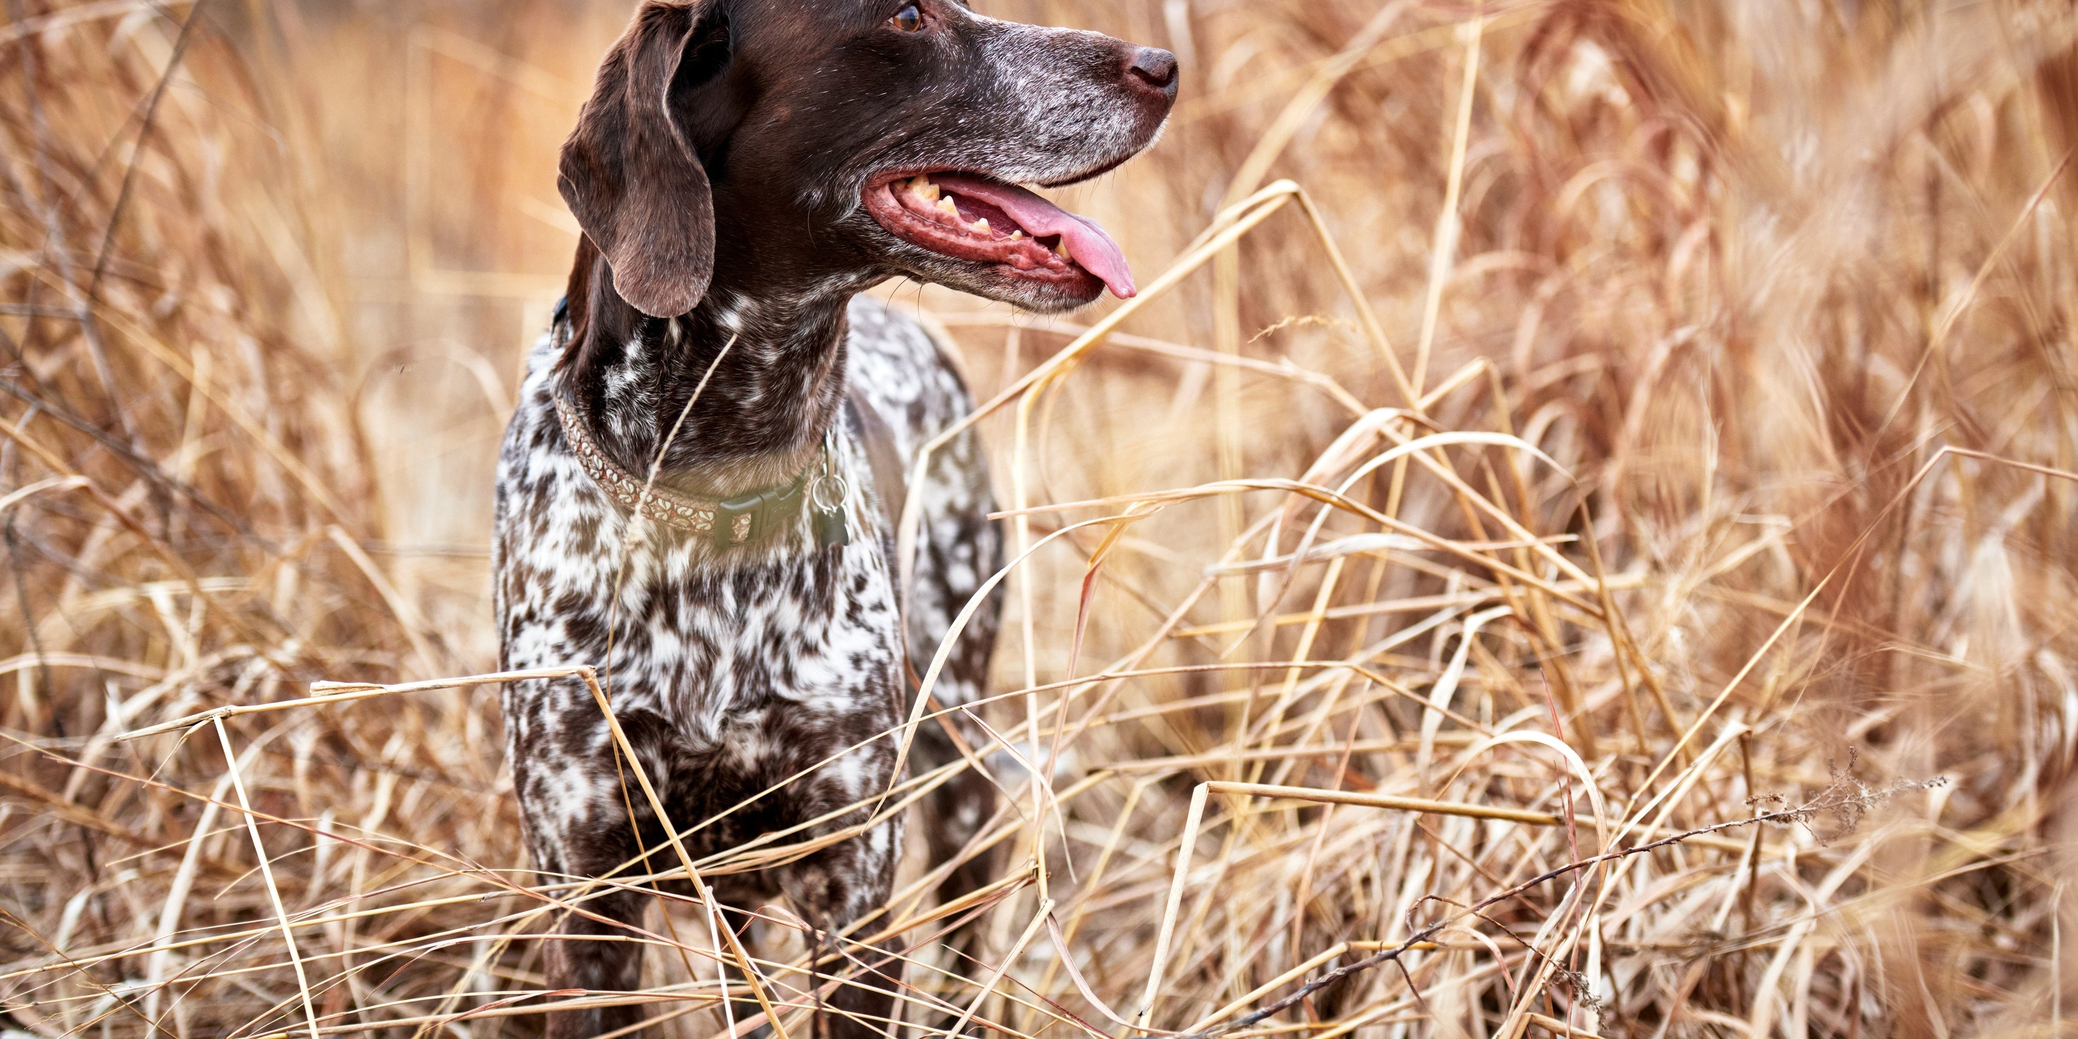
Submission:
[[[2068,0],[977,6],[1184,87],[1062,191],[1141,299],[881,289],[1014,513],[1000,881],[912,856],[844,937],[908,941],[910,1022],[2078,1035]],[[8,1039],[761,1024],[663,896],[644,991],[544,993],[596,887],[438,682],[497,667],[490,468],[628,8],[6,0]],[[781,1039],[794,923],[744,935]]]

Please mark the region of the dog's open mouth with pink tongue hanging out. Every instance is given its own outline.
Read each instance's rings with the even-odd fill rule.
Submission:
[[[956,260],[997,264],[1031,281],[1095,274],[1112,295],[1130,299],[1133,272],[1118,243],[1018,185],[975,172],[921,172],[877,179],[867,212],[889,235]]]

